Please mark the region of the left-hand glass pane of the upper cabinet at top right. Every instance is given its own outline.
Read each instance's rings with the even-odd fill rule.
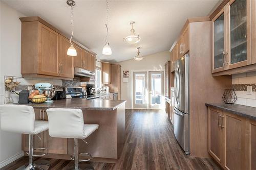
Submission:
[[[214,21],[214,69],[224,66],[224,13]]]

